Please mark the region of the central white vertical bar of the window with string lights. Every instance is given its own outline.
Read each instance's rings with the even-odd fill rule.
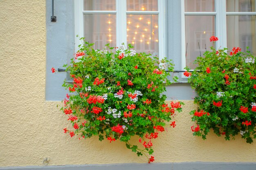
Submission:
[[[127,47],[126,0],[116,0],[117,46],[122,43]]]

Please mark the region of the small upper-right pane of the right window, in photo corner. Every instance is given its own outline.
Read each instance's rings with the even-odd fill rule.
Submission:
[[[227,12],[255,12],[255,0],[226,0]]]

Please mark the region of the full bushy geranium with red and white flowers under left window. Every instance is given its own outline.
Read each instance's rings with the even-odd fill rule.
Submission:
[[[84,41],[84,38],[81,38]],[[84,42],[66,67],[73,83],[64,82],[70,93],[61,108],[72,124],[64,132],[79,139],[99,136],[110,141],[120,140],[138,156],[145,155],[153,162],[153,139],[165,130],[181,102],[165,103],[165,86],[173,64],[146,53],[135,53],[132,46],[110,47],[103,51],[92,49]],[[159,66],[159,67],[158,67]],[[168,123],[170,122],[170,123]],[[138,136],[139,146],[130,143]]]

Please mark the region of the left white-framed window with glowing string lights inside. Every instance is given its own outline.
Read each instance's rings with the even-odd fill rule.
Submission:
[[[137,52],[165,57],[165,0],[76,0],[75,35],[94,43],[132,44]],[[77,46],[80,42],[75,41]]]

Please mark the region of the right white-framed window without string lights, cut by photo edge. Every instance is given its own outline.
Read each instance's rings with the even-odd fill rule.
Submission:
[[[234,46],[256,54],[255,0],[182,0],[182,66],[196,67],[193,61],[212,43],[216,48]]]

